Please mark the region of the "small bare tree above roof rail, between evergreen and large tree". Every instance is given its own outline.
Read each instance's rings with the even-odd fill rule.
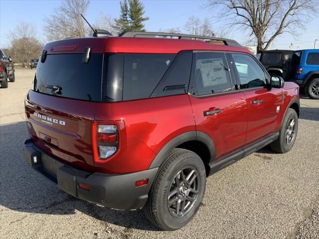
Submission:
[[[191,16],[186,21],[184,30],[186,33],[192,35],[213,36],[211,25],[211,21],[207,17],[201,21],[198,17]]]

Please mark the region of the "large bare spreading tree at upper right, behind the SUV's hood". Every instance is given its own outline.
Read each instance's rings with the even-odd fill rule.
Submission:
[[[296,26],[303,27],[318,0],[210,0],[209,6],[220,7],[221,19],[231,19],[251,31],[257,50],[266,50],[273,40],[288,32],[296,36]]]

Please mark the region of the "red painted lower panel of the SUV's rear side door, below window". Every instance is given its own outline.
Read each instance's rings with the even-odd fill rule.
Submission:
[[[243,146],[246,140],[248,107],[242,92],[189,98],[196,130],[211,137],[215,144],[217,160]],[[220,109],[221,113],[204,117],[204,111],[216,109]]]

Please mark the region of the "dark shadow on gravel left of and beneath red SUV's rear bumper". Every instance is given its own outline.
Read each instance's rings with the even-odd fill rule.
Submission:
[[[59,190],[25,162],[22,148],[27,137],[25,121],[0,125],[0,205],[18,212],[49,215],[69,215],[79,211],[106,224],[160,231],[145,218],[142,210],[106,208]],[[123,197],[127,196],[124,192]]]

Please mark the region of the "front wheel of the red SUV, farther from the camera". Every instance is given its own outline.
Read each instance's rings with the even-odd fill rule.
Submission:
[[[294,122],[293,126],[292,122]],[[288,109],[279,130],[278,138],[270,144],[272,150],[278,153],[286,153],[290,151],[290,149],[294,146],[297,132],[298,115],[295,110]]]

